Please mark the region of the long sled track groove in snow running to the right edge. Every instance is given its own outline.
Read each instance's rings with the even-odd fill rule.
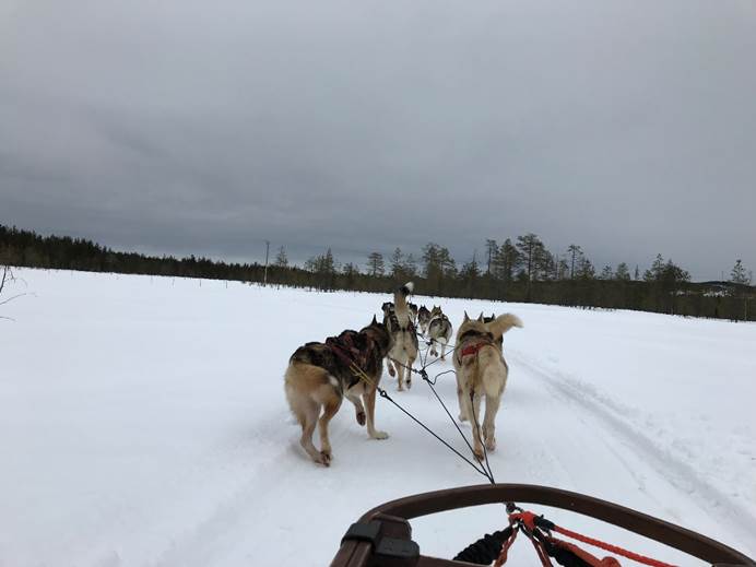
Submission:
[[[577,391],[575,387],[570,386],[568,379],[564,379],[558,373],[550,373],[541,368],[520,352],[510,350],[508,357],[511,361],[517,361],[518,365],[541,379],[555,397],[579,405],[587,411],[589,417],[595,418],[610,428],[662,479],[683,494],[690,496],[690,499],[696,501],[699,507],[702,507],[701,504],[708,504],[705,508],[707,513],[716,515],[720,521],[725,523],[729,531],[737,534],[737,539],[747,542],[748,547],[756,548],[756,536],[754,536],[756,534],[756,516],[751,510],[733,501],[719,488],[704,481],[690,465],[682,462],[669,451],[659,448],[646,435],[618,417],[612,407],[593,392]],[[693,495],[697,495],[697,498],[694,498]]]

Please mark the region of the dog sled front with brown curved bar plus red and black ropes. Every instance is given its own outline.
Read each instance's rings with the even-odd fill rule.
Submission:
[[[409,520],[413,518],[488,504],[505,504],[507,506],[509,516],[503,513],[503,524],[497,527],[504,529],[493,534],[486,534],[460,552],[454,559],[423,555],[417,543],[412,540],[412,527]],[[560,542],[560,540],[553,536],[553,531],[559,534],[571,533],[571,536],[580,536],[580,534],[569,532],[543,517],[534,516],[519,508],[519,505],[525,504],[569,510],[609,522],[680,550],[707,562],[712,567],[756,566],[756,562],[749,557],[706,535],[591,496],[528,484],[485,484],[407,496],[369,510],[346,531],[331,567],[491,565],[495,560],[501,562],[503,557],[506,562],[506,548],[504,547],[508,548],[508,544],[511,544],[518,531],[524,534],[523,539],[531,540],[541,557],[542,565],[574,567],[619,565],[613,557],[598,559],[574,544],[564,546],[554,544],[553,542]],[[583,539],[579,541],[596,545],[596,540],[581,538]],[[539,541],[543,541],[541,552],[539,552]],[[631,552],[603,542],[598,542],[598,544],[605,545],[604,550],[610,551],[612,555],[631,554]],[[546,555],[546,557],[541,555]],[[630,557],[636,562],[640,560],[646,565],[669,565],[638,554],[625,555],[625,557]],[[641,557],[642,560],[638,557]],[[551,563],[552,559],[554,559],[553,564]],[[630,560],[623,559],[623,565],[630,563]],[[497,563],[497,565],[501,564],[503,562]]]

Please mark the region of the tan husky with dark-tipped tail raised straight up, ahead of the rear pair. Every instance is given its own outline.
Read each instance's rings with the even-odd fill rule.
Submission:
[[[404,390],[405,381],[407,389],[412,388],[412,373],[409,368],[412,368],[415,358],[417,358],[417,333],[412,323],[411,311],[406,302],[406,296],[412,293],[413,288],[412,282],[405,283],[393,295],[393,311],[389,312],[386,307],[383,309],[383,320],[392,342],[388,368],[391,376],[397,375],[400,392]],[[386,304],[383,305],[386,306]]]

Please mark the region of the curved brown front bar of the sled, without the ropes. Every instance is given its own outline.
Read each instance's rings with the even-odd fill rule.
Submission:
[[[452,567],[471,565],[428,557],[412,541],[409,520],[485,504],[535,504],[595,518],[698,557],[713,567],[756,566],[756,562],[706,535],[646,513],[582,494],[529,484],[484,484],[407,496],[382,504],[344,535],[331,567]],[[503,513],[503,525],[506,524]]]

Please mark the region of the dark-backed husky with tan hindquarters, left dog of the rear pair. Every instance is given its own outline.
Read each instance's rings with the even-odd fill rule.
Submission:
[[[290,358],[284,376],[286,400],[302,425],[299,444],[315,462],[326,466],[331,463],[328,424],[344,397],[354,404],[357,423],[367,423],[371,439],[388,438],[375,427],[375,409],[383,357],[392,345],[391,333],[374,316],[359,332],[346,330],[324,343],[307,343]],[[316,425],[320,429],[320,451],[312,445]]]

